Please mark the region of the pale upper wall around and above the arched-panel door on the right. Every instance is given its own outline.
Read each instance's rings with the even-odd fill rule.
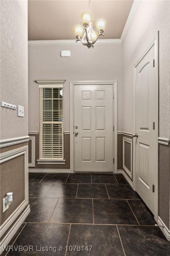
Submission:
[[[140,1],[123,43],[123,130],[133,132],[133,65],[159,30],[159,136],[170,137],[170,2]]]

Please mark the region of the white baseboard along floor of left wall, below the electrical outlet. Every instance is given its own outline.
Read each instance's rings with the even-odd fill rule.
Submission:
[[[24,210],[24,212],[21,214],[21,216],[17,219],[17,221],[15,222],[15,224],[12,226],[12,228],[7,232],[7,234],[5,235],[5,237],[1,240],[0,242],[0,254],[3,251],[3,247],[7,246],[8,243],[10,242],[10,240],[13,238],[13,236],[15,235],[15,233],[17,232],[17,230],[20,228],[20,226],[22,225],[23,221],[26,219],[26,217],[28,216],[28,214],[30,213],[30,205],[28,205],[26,207],[26,209]]]

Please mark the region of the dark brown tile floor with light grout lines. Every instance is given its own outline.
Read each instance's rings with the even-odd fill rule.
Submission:
[[[3,256],[170,255],[170,243],[122,174],[29,173],[29,182],[31,213],[9,245],[34,251]]]

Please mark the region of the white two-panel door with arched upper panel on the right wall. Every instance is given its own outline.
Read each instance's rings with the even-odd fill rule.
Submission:
[[[135,68],[135,190],[154,213],[156,78],[155,44]]]

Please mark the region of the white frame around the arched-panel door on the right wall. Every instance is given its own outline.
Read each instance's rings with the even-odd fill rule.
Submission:
[[[154,194],[154,218],[158,219],[158,124],[159,124],[159,31],[158,34],[154,37],[152,42],[136,61],[133,66],[133,133],[135,133],[135,80],[136,80],[136,66],[147,54],[150,48],[155,44],[155,81],[156,81],[156,90],[155,90],[155,104],[156,104],[156,113],[155,113],[155,194]],[[133,190],[135,191],[135,138],[133,138]]]

